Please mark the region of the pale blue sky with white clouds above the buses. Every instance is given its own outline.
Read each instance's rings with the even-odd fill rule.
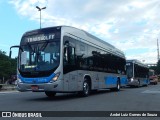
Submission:
[[[121,49],[127,59],[157,62],[160,39],[159,0],[1,0],[0,49],[8,52],[22,34],[42,27],[69,25]]]

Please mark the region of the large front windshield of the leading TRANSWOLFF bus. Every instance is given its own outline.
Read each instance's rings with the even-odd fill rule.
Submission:
[[[58,67],[60,62],[59,41],[39,41],[21,45],[19,70],[21,72],[49,71]]]

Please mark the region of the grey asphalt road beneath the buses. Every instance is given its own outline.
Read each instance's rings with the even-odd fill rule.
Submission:
[[[41,92],[0,92],[0,111],[160,111],[160,83],[148,87],[122,88],[120,92],[102,90],[92,93],[89,97],[79,97],[77,94],[57,94],[54,99],[49,99]],[[151,118],[153,120],[160,119],[157,117],[140,117],[139,119],[150,120]],[[117,120],[117,117],[50,117],[41,119]],[[134,120],[135,117],[118,117],[118,119]]]

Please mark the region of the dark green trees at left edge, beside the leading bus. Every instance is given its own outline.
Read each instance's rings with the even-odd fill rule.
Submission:
[[[16,74],[17,58],[10,59],[6,52],[0,50],[0,79],[9,79]]]

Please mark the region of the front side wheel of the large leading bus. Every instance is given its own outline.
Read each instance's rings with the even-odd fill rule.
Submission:
[[[83,91],[82,91],[82,96],[87,97],[90,94],[90,85],[88,80],[85,80],[83,82]]]

